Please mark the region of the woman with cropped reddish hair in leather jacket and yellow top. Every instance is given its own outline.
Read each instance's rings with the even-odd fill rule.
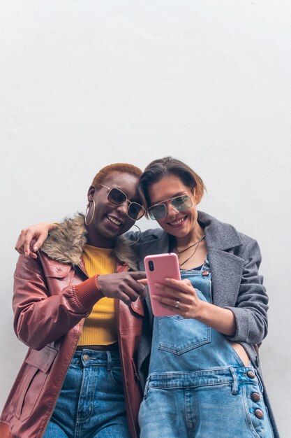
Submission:
[[[31,257],[20,255],[14,328],[29,351],[1,414],[1,438],[138,436],[145,275],[122,234],[144,215],[141,173],[131,164],[101,169],[86,215],[58,225]]]

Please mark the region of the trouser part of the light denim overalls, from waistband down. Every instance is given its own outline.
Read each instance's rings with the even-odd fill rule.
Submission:
[[[140,438],[272,438],[253,367],[152,374]]]

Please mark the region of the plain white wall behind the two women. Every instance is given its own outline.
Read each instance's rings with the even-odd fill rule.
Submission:
[[[84,210],[105,164],[173,155],[204,178],[201,209],[260,243],[262,368],[290,436],[290,18],[289,0],[1,1],[0,408],[26,351],[20,229]]]

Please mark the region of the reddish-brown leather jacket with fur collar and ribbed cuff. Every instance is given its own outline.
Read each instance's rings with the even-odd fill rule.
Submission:
[[[70,233],[66,232],[68,228],[70,231],[72,223],[76,225],[74,221],[82,229],[79,253],[73,246],[73,249],[68,248],[73,243]],[[62,236],[58,237],[61,227],[66,236],[64,241]],[[46,242],[36,260],[20,255],[15,270],[14,328],[17,337],[29,346],[29,351],[1,414],[1,438],[43,436],[75,352],[83,318],[102,297],[96,288],[96,276],[88,278],[81,259],[86,242],[82,216],[66,220]],[[126,239],[119,238],[115,248],[120,261],[117,272],[129,269],[128,253],[124,253],[126,248]],[[122,264],[121,260],[126,263]],[[136,438],[142,395],[135,355],[144,311],[140,299],[131,306],[117,300],[116,306],[128,425],[131,436]]]

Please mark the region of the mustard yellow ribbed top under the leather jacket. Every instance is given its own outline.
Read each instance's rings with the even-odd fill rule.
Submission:
[[[116,258],[110,248],[85,245],[82,254],[89,277],[116,272]],[[117,342],[114,299],[101,298],[85,318],[78,345],[109,345]]]

